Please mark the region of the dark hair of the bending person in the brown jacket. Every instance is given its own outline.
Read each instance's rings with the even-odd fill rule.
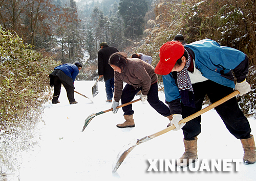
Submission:
[[[115,65],[123,70],[127,66],[127,54],[124,52],[116,52],[110,56],[109,64]]]

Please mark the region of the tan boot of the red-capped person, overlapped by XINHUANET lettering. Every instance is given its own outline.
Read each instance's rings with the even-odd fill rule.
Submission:
[[[184,140],[185,152],[176,162],[176,166],[187,167],[190,163],[198,160],[197,157],[197,137],[195,140]]]

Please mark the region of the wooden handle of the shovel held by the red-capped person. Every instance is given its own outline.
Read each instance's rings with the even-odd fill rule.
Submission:
[[[186,118],[180,120],[179,124],[188,122],[188,121],[190,121],[191,119],[194,119],[194,118],[200,116],[201,114],[203,114],[203,113],[205,113],[205,112],[211,110],[212,108],[215,108],[215,107],[221,105],[223,102],[225,102],[225,101],[227,101],[227,100],[233,98],[234,96],[236,96],[236,95],[238,95],[238,94],[239,94],[239,91],[238,91],[238,90],[232,92],[231,94],[227,95],[226,97],[223,97],[222,99],[218,100],[217,102],[214,102],[214,103],[211,104],[210,106],[207,106],[206,108],[204,108],[204,109],[202,109],[202,110],[200,110],[200,111],[198,111],[198,112],[196,112],[196,113],[194,113],[194,114],[192,114],[192,115],[190,115],[190,116],[188,116],[188,117],[186,117]],[[157,132],[157,133],[155,133],[155,134],[152,134],[152,135],[150,135],[150,136],[148,136],[148,137],[151,138],[151,139],[153,139],[153,138],[158,137],[158,136],[160,136],[160,135],[162,135],[162,134],[164,134],[164,133],[167,133],[167,132],[169,132],[169,131],[171,131],[171,130],[174,130],[174,128],[175,128],[175,125],[169,126],[169,127],[165,128],[164,130],[162,130],[162,131],[160,131],[160,132]]]

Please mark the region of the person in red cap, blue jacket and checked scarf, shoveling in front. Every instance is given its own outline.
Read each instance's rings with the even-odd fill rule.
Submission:
[[[232,93],[233,89],[238,90],[240,96],[251,90],[246,81],[247,55],[237,49],[220,46],[214,40],[204,39],[184,46],[177,41],[166,42],[160,48],[159,57],[155,72],[163,75],[165,99],[173,115],[167,126],[176,126],[182,118],[200,111],[206,94],[214,103]],[[236,85],[232,71],[237,79]],[[244,164],[254,164],[255,142],[236,97],[215,109],[228,131],[241,140]],[[201,133],[201,116],[188,121],[182,131],[185,152],[176,164],[186,167],[198,160],[197,136]]]

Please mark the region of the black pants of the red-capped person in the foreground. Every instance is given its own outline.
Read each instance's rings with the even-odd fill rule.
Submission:
[[[202,109],[202,103],[206,94],[210,101],[214,103],[233,92],[232,88],[217,84],[210,80],[193,84],[193,89],[196,108],[194,109],[182,105],[183,119]],[[250,138],[250,124],[243,112],[240,110],[236,97],[229,99],[223,104],[217,106],[215,109],[226,125],[228,131],[234,137],[237,139]],[[210,122],[209,124],[214,124],[214,122]],[[201,133],[201,116],[186,122],[182,130],[185,140],[194,140],[195,137]]]

